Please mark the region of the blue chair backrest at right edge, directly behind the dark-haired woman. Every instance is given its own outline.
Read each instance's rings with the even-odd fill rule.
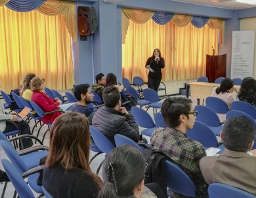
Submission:
[[[231,104],[231,110],[240,110],[246,114],[249,114],[249,116],[251,116],[254,120],[256,119],[256,108],[244,101],[234,101]]]

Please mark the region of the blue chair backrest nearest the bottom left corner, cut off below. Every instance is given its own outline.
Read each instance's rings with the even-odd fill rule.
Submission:
[[[20,198],[35,198],[32,191],[28,187],[28,184],[24,181],[21,174],[18,172],[16,167],[12,165],[7,159],[2,159],[2,165],[7,173],[8,178],[11,180],[12,185],[17,191]]]

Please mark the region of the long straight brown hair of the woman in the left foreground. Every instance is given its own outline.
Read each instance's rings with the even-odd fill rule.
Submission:
[[[102,180],[89,167],[89,122],[85,115],[69,112],[58,116],[50,129],[50,148],[47,167],[61,165],[66,171],[83,169],[92,176],[98,187]]]

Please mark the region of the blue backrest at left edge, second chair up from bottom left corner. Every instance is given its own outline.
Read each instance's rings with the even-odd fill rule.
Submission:
[[[7,156],[12,161],[16,169],[18,169],[20,174],[28,171],[28,167],[26,166],[24,161],[22,161],[21,157],[18,155],[18,153],[10,144],[10,142],[7,142],[5,140],[0,140],[0,145],[2,146],[3,150],[5,151],[5,154],[7,154]]]

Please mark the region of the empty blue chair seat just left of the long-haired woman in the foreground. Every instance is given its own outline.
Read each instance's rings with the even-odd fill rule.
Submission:
[[[45,157],[49,154],[48,151],[40,151],[40,152],[33,152],[31,154],[26,154],[26,156],[20,156],[24,163],[27,165],[28,169],[32,169],[38,165],[38,162],[42,157]]]

